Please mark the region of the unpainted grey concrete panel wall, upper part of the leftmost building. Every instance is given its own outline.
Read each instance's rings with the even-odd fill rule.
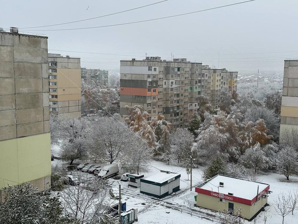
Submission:
[[[49,132],[47,37],[0,32],[0,52],[0,141]]]

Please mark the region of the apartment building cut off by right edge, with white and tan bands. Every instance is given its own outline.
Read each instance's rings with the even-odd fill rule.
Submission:
[[[285,60],[280,116],[280,142],[283,142],[285,132],[291,135],[298,131],[298,60]]]

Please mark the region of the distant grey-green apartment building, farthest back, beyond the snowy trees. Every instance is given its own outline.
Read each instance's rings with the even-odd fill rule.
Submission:
[[[81,78],[86,82],[96,81],[99,85],[108,85],[109,71],[100,69],[86,69],[81,68]]]

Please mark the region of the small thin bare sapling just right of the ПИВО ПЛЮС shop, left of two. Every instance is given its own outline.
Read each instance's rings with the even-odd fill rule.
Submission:
[[[283,222],[285,219],[285,216],[288,215],[291,211],[291,205],[290,205],[290,196],[288,194],[280,193],[278,195],[278,199],[274,200],[274,213],[275,215],[280,215],[283,217]]]

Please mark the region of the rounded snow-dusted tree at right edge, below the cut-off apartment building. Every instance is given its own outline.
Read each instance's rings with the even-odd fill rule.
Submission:
[[[287,180],[289,180],[289,176],[295,174],[298,170],[297,151],[291,146],[286,146],[277,154],[276,163],[277,170],[285,175]]]

